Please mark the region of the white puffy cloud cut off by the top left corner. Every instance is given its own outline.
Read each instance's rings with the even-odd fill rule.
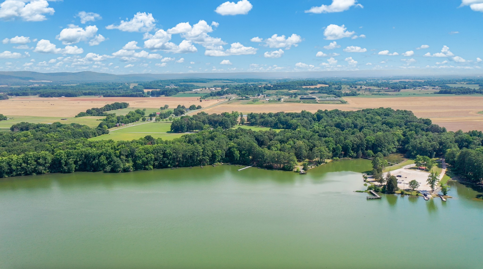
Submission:
[[[47,19],[45,14],[53,15],[54,12],[47,0],[5,0],[0,4],[0,19],[4,20],[18,17],[28,22],[40,22]]]

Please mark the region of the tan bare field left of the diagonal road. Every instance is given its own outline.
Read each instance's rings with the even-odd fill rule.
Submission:
[[[128,102],[129,106],[134,108],[159,108],[164,105],[176,108],[177,105],[209,107],[219,101],[199,102],[198,97],[22,97],[1,100],[0,114],[8,116],[73,117],[89,108],[100,108],[114,102]]]

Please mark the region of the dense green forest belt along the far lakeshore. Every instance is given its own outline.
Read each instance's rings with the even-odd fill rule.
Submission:
[[[250,124],[282,128],[279,132],[230,128],[237,118],[238,112],[199,113],[193,120],[182,117],[177,121],[200,122],[210,128],[203,125],[202,131],[172,141],[149,135],[132,141],[88,141],[108,131],[58,122],[18,123],[12,126],[13,132],[0,132],[0,177],[128,172],[220,161],[292,170],[297,161],[401,152],[408,157],[446,155],[461,175],[478,182],[483,179],[482,132],[446,132],[411,111],[378,108],[248,115]]]

